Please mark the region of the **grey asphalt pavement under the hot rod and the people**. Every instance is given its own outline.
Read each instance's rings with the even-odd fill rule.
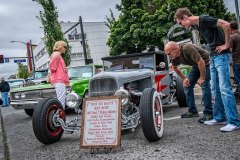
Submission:
[[[202,112],[201,93],[196,89],[196,103]],[[80,133],[64,134],[59,142],[43,145],[34,136],[32,119],[23,110],[1,108],[5,132],[0,129],[0,158],[11,160],[78,160],[78,159],[228,159],[240,157],[240,130],[223,133],[219,126],[206,126],[198,118],[181,119],[186,108],[177,104],[164,107],[164,135],[158,142],[148,142],[138,127],[134,132],[122,132],[121,148],[108,154],[104,150],[91,154],[81,149]],[[238,105],[240,112],[240,105]],[[74,113],[69,113],[73,117]],[[202,114],[201,114],[202,116]],[[0,119],[1,121],[1,119]],[[2,124],[2,123],[1,123]],[[3,127],[2,126],[2,127]],[[7,145],[4,147],[4,141]]]

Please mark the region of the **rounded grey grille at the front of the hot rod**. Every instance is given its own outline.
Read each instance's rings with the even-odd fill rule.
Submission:
[[[117,84],[112,78],[94,79],[90,82],[90,97],[113,96],[116,91]]]

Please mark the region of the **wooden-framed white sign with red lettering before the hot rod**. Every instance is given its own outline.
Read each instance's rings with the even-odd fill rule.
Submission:
[[[80,148],[120,147],[120,97],[84,99],[82,113]]]

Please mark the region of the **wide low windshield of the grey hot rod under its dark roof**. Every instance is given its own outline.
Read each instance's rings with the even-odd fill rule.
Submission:
[[[153,56],[135,56],[119,59],[109,59],[103,61],[104,66],[109,70],[137,69],[137,68],[154,68]]]

